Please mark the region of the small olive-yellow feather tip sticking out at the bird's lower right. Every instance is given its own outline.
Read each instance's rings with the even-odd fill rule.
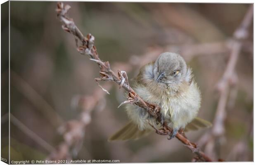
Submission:
[[[192,122],[188,123],[185,127],[185,132],[190,131],[190,130],[199,130],[200,128],[208,128],[211,127],[212,124],[204,120],[202,118],[194,118]]]

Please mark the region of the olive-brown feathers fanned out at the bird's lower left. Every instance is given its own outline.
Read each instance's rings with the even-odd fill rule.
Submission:
[[[150,132],[152,132],[152,130],[139,130],[138,126],[130,121],[123,128],[109,137],[108,141],[139,139],[140,137],[146,136]]]

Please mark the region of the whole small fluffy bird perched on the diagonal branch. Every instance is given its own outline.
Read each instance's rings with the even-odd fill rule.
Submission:
[[[155,62],[140,69],[135,80],[135,92],[145,101],[161,107],[164,121],[173,128],[170,138],[175,137],[179,129],[188,131],[211,126],[208,121],[196,117],[201,106],[201,93],[191,68],[179,54],[160,54]],[[144,108],[127,104],[126,111],[130,122],[109,141],[143,137],[154,131],[149,123],[157,128],[161,126]]]

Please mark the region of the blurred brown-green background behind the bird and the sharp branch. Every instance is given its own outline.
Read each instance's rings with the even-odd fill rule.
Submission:
[[[81,32],[95,36],[100,58],[115,72],[127,71],[130,84],[139,68],[162,52],[180,53],[201,90],[199,117],[214,121],[220,97],[216,85],[230,57],[230,40],[250,4],[66,4]],[[136,141],[107,141],[128,121],[124,107],[117,108],[126,96],[113,82],[100,82],[110,95],[98,87],[98,66],[76,51],[74,37],[61,28],[56,6],[10,2],[11,160],[190,162],[193,153],[178,139],[152,133]],[[252,24],[248,32],[228,92],[223,134],[211,138],[211,128],[186,133],[216,161],[253,161]],[[7,56],[2,57],[1,74],[2,92],[7,92]],[[8,144],[7,112],[8,104],[2,102],[2,151]],[[85,113],[90,121],[86,125]]]

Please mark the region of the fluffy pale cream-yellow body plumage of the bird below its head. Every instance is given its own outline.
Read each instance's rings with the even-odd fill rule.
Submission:
[[[161,113],[173,128],[184,128],[196,116],[201,104],[201,94],[197,83],[192,80],[191,69],[187,69],[185,80],[177,85],[157,83],[153,79],[154,62],[146,64],[140,69],[134,86],[135,92],[145,101],[161,106]],[[140,130],[148,127],[147,112],[143,108],[128,104],[128,116],[136,123]],[[155,120],[151,123],[155,125]]]

